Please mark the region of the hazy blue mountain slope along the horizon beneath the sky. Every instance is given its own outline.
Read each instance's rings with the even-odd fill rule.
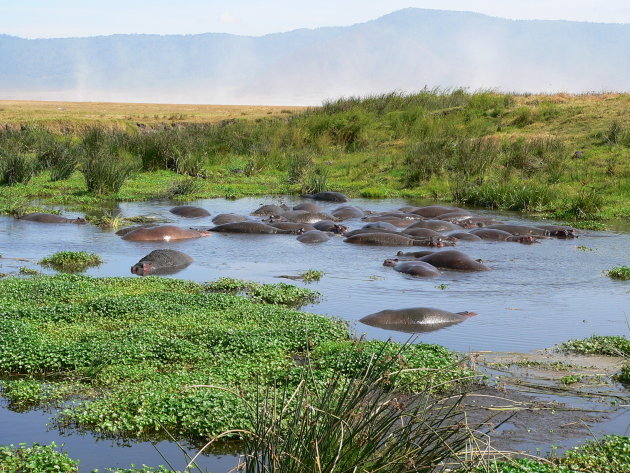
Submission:
[[[425,85],[628,91],[629,48],[626,24],[412,8],[262,37],[0,35],[0,99],[317,104]]]

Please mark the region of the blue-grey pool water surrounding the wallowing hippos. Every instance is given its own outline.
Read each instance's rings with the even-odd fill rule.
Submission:
[[[212,215],[223,212],[249,214],[263,203],[278,203],[279,200],[212,199],[192,204],[208,209]],[[301,201],[291,197],[281,200],[289,206]],[[388,210],[410,205],[410,202],[357,199],[352,204],[372,210]],[[166,201],[121,203],[115,212],[121,216],[152,215],[182,226],[212,226],[212,217],[185,219],[172,215],[168,212],[172,205]],[[339,204],[321,205],[325,211],[330,211]],[[518,214],[477,213],[511,223],[535,222]],[[344,223],[351,229],[363,225],[358,220]],[[277,279],[280,275],[317,269],[324,271],[325,276],[320,282],[306,286],[320,291],[323,299],[305,309],[348,320],[357,334],[364,333],[368,338],[407,340],[408,334],[358,322],[361,317],[383,309],[425,306],[453,312],[470,310],[479,316],[443,330],[420,334],[419,339],[459,351],[527,352],[570,338],[628,333],[630,286],[627,282],[612,281],[603,274],[613,266],[630,264],[630,226],[619,223],[615,228],[617,231],[587,231],[578,239],[549,239],[535,245],[461,242],[456,249],[483,259],[492,271],[443,272],[441,277],[422,280],[403,276],[382,265],[384,259],[394,256],[401,248],[350,245],[343,243],[340,237],[313,245],[302,244],[293,235],[236,234],[213,234],[182,242],[139,243],[124,241],[113,231],[90,225],[45,225],[0,217],[0,253],[4,256],[0,260],[0,272],[14,272],[21,266],[52,272],[37,266],[36,261],[60,250],[85,250],[99,254],[105,261],[86,274],[130,276],[129,268],[157,248],[173,248],[191,255],[195,262],[173,277],[200,282],[222,276],[278,282],[286,281]],[[300,281],[293,283],[302,285]],[[17,416],[17,422],[22,415],[0,410],[0,425],[9,419],[7,416]],[[41,423],[35,424],[37,426],[31,432],[41,430]],[[18,438],[0,428],[0,444],[37,438],[34,434],[27,435],[26,430],[24,436]],[[69,444],[69,438],[66,444]],[[99,445],[102,444],[92,443],[90,451],[102,449]],[[136,448],[139,447],[127,451]],[[105,449],[125,451],[112,450],[110,445]],[[73,448],[71,453],[86,463],[85,447],[81,447],[80,452],[77,454]],[[118,453],[112,455],[118,456]],[[151,463],[143,455],[147,452],[139,451],[138,457],[130,461],[164,463],[161,458]],[[110,466],[98,462],[95,465]]]

